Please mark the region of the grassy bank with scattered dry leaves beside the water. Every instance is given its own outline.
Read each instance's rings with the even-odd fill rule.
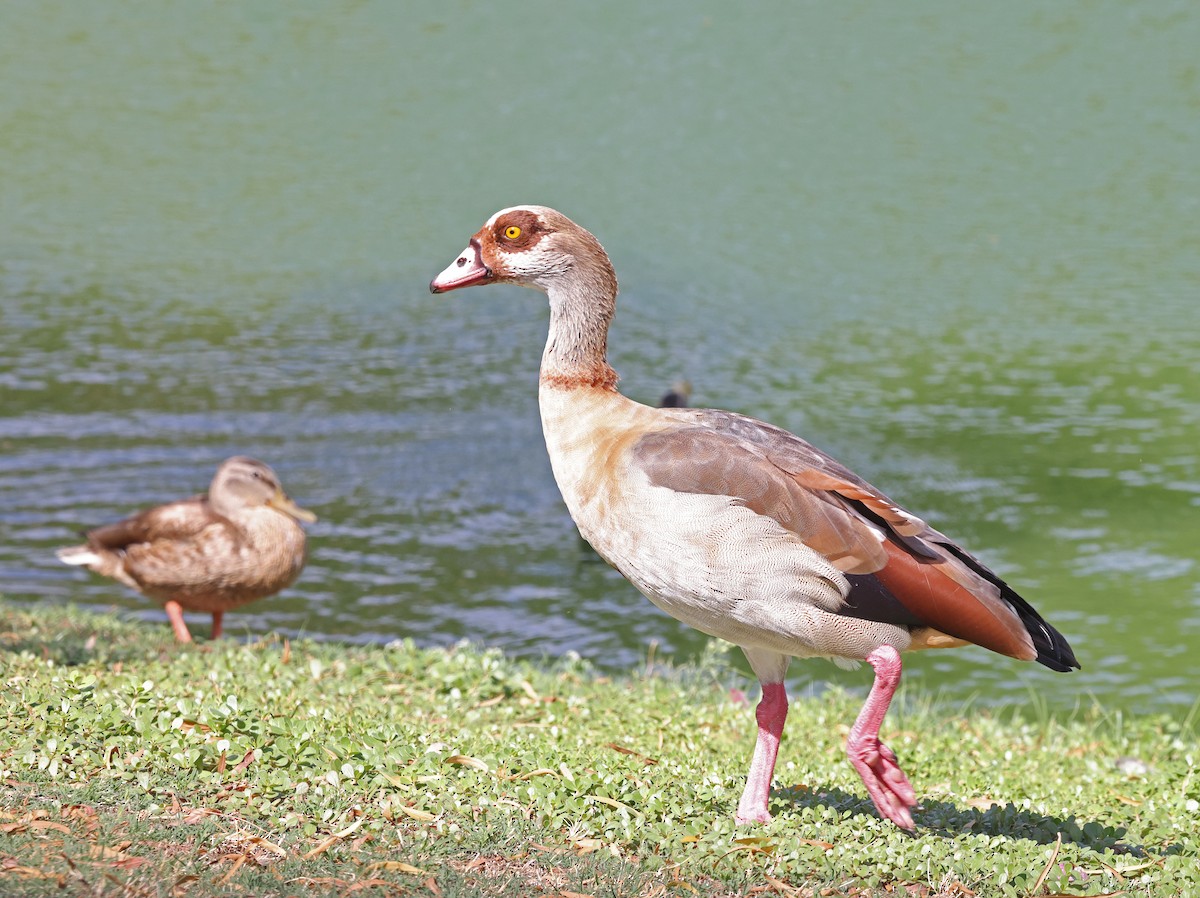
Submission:
[[[775,819],[734,827],[754,714],[720,649],[610,680],[0,603],[0,677],[5,896],[1200,894],[1192,720],[908,700],[910,836],[842,693],[793,704]]]

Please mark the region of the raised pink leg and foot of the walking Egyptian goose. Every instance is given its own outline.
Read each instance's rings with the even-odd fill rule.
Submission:
[[[846,754],[863,778],[880,815],[899,827],[912,830],[910,808],[917,803],[917,792],[900,770],[895,753],[880,742],[880,725],[900,686],[900,653],[892,646],[880,646],[866,655],[866,660],[875,667],[875,684],[850,730]]]

